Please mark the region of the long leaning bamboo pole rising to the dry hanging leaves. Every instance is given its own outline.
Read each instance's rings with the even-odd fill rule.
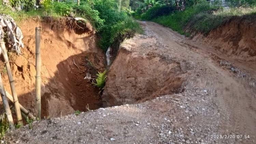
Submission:
[[[7,74],[8,74],[8,78],[9,78],[9,82],[10,82],[10,86],[11,86],[11,90],[12,90],[12,96],[13,96],[13,100],[14,100],[14,106],[15,106],[15,110],[16,110],[18,124],[19,125],[23,125],[23,123],[22,123],[22,115],[21,115],[20,108],[19,108],[19,101],[18,101],[16,89],[15,89],[15,84],[14,84],[14,80],[13,80],[13,75],[12,75],[12,70],[11,70],[10,62],[8,60],[8,55],[7,55],[7,52],[6,52],[6,49],[5,49],[4,42],[1,42],[0,44],[1,44],[3,58],[4,58],[4,63],[5,63],[5,67],[6,67],[6,70],[7,70]]]

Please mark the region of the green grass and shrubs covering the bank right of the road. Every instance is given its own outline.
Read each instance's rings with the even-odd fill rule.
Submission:
[[[213,3],[206,0],[151,0],[150,4],[138,0],[137,3],[140,7],[132,13],[134,18],[154,21],[186,36],[190,35],[186,32],[188,27],[193,33],[208,34],[233,16],[256,14],[255,0],[226,0],[225,6],[229,8],[224,8],[220,0]]]

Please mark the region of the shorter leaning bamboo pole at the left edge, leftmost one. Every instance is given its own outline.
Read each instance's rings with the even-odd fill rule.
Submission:
[[[3,107],[4,107],[5,113],[7,115],[8,122],[10,124],[10,128],[14,129],[15,126],[14,126],[14,122],[13,122],[13,118],[12,118],[12,112],[11,112],[8,100],[6,98],[6,93],[4,91],[4,85],[3,85],[3,80],[2,80],[1,74],[0,74],[0,94],[1,94],[1,98],[3,101]]]

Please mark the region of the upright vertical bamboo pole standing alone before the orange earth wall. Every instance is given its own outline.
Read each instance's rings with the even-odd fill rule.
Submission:
[[[36,117],[41,118],[41,54],[40,54],[40,33],[41,27],[35,28],[35,108],[37,110]]]

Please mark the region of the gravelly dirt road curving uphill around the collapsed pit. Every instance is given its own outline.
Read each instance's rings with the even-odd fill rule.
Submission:
[[[210,53],[210,47],[187,40],[153,22],[141,24],[145,34],[126,41],[125,51],[135,55],[133,57],[154,57],[147,59],[154,60],[154,69],[158,69],[157,58],[165,63],[179,63],[182,91],[140,104],[100,108],[79,116],[34,122],[31,130],[25,126],[13,131],[9,142],[256,143],[256,81],[250,72],[256,68],[236,61],[230,63],[225,55]],[[118,56],[116,59],[120,60]],[[112,66],[117,65],[115,62]],[[132,66],[133,63],[127,65]],[[124,81],[119,77],[117,80]],[[211,135],[217,134],[231,134],[236,138],[211,139]],[[237,139],[238,134],[250,135],[250,139]]]

